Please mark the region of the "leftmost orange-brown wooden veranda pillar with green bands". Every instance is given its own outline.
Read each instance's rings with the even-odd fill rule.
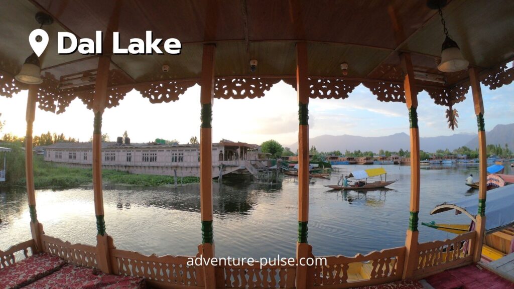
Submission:
[[[34,240],[35,250],[38,252],[43,251],[41,243],[41,234],[43,228],[38,222],[38,214],[35,210],[35,192],[34,192],[34,166],[32,161],[32,124],[35,118],[35,102],[38,97],[38,86],[30,85],[27,98],[27,135],[25,136],[25,178],[27,185],[27,195],[29,200],[30,212],[30,231],[32,239]]]

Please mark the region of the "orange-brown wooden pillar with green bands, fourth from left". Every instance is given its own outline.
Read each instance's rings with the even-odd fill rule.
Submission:
[[[307,71],[307,44],[296,44],[296,89],[298,93],[298,242],[296,258],[309,257],[311,251],[307,244],[307,223],[309,221],[309,84]],[[296,287],[307,286],[307,267],[297,267]]]

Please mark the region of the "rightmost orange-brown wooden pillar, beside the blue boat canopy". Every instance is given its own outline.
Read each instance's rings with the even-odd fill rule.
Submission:
[[[487,150],[485,141],[484,124],[484,102],[482,101],[482,89],[478,71],[474,67],[469,68],[469,82],[473,93],[473,104],[475,107],[476,122],[479,129],[479,209],[476,214],[475,223],[475,242],[473,248],[473,261],[479,262],[482,257],[482,245],[485,235],[485,200],[487,192]]]

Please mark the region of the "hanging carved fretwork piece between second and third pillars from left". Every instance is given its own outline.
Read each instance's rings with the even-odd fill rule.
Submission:
[[[154,82],[150,84],[136,85],[134,88],[151,103],[162,103],[178,100],[178,96],[195,85],[196,81],[169,81]]]

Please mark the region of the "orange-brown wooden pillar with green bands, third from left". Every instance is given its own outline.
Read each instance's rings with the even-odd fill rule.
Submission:
[[[205,44],[201,63],[200,78],[200,213],[202,244],[198,246],[203,258],[214,257],[214,239],[212,226],[212,104],[214,99],[214,56],[216,46]],[[214,289],[214,267],[209,265],[204,270],[206,289]]]

